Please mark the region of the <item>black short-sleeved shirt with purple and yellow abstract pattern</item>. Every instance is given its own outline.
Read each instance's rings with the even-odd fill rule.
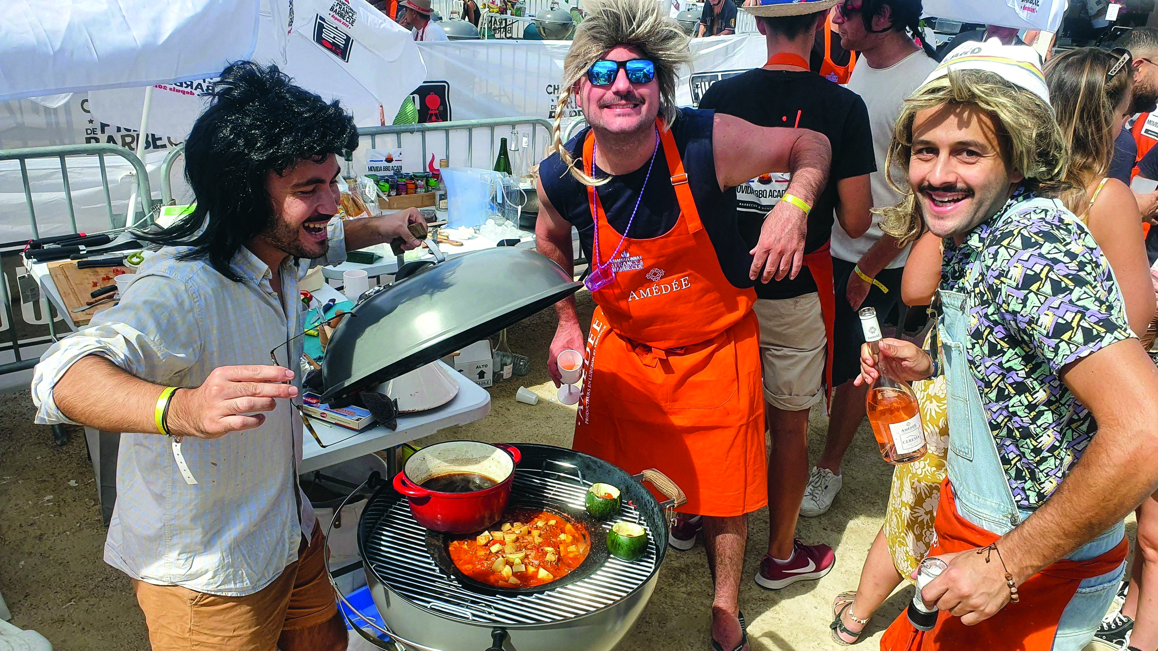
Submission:
[[[1097,432],[1062,367],[1134,336],[1090,231],[1032,198],[1014,195],[960,247],[946,240],[941,272],[943,290],[968,297],[969,371],[1023,509],[1053,495]]]

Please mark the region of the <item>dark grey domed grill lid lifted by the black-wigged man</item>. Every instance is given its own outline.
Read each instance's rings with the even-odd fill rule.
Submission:
[[[516,323],[579,291],[558,264],[496,247],[447,258],[352,310],[322,360],[322,402],[342,403]],[[337,398],[337,400],[335,400]]]

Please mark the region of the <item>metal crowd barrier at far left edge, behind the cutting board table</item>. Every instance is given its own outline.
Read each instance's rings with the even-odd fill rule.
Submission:
[[[119,147],[117,145],[103,142],[93,145],[57,145],[51,147],[27,147],[19,149],[0,149],[0,161],[19,161],[20,163],[20,175],[21,182],[24,189],[24,205],[28,209],[28,226],[34,239],[41,236],[41,224],[37,219],[36,206],[32,200],[32,189],[31,182],[28,174],[28,161],[35,159],[57,159],[60,163],[60,176],[63,182],[63,189],[65,195],[65,204],[68,209],[68,225],[72,232],[78,232],[76,225],[76,210],[73,203],[73,191],[72,184],[69,183],[68,175],[68,159],[74,156],[96,156],[100,162],[101,169],[101,185],[104,189],[104,205],[108,213],[109,227],[105,231],[100,231],[101,233],[119,233],[127,227],[135,226],[135,222],[131,222],[127,215],[117,215],[112,212],[112,197],[109,190],[109,173],[105,167],[105,156],[120,156],[133,167],[134,176],[137,178],[137,195],[140,197],[141,207],[144,209],[145,219],[147,221],[155,207],[155,202],[153,200],[153,195],[149,190],[148,173],[145,169],[145,164],[138,159],[131,151]],[[120,217],[124,217],[122,220]],[[89,235],[96,234],[97,232],[90,232]],[[12,257],[14,253],[19,253],[24,248],[23,241],[0,243],[0,254],[7,254],[6,257]],[[15,265],[14,265],[15,266]],[[7,319],[7,339],[5,344],[0,344],[0,352],[12,351],[14,361],[7,364],[0,364],[0,375],[7,373],[16,373],[19,371],[25,371],[36,365],[37,358],[28,358],[21,353],[22,348],[29,348],[34,345],[39,345],[56,341],[56,327],[54,327],[54,309],[52,303],[46,299],[42,299],[42,306],[47,306],[47,335],[38,334],[35,330],[37,324],[24,323],[20,321],[19,324],[23,328],[17,328],[16,321],[16,309],[20,305],[20,293],[16,292],[16,302],[13,301],[13,294],[9,286],[9,270],[0,269],[0,300],[3,301],[5,317]],[[21,339],[21,332],[19,330],[24,330],[25,337]],[[29,330],[32,330],[29,332]],[[28,335],[34,335],[29,337]]]

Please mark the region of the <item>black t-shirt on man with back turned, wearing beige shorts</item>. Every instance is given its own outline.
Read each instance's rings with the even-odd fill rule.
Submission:
[[[833,169],[828,184],[808,213],[805,253],[824,246],[836,218],[836,182],[877,171],[868,109],[859,95],[812,72],[756,68],[713,83],[699,107],[714,109],[760,126],[811,129],[828,137],[833,146]],[[750,246],[760,240],[764,217],[787,188],[787,176],[761,177],[736,189],[740,232]],[[756,286],[762,299],[791,299],[816,291],[807,268],[794,279],[772,280]]]

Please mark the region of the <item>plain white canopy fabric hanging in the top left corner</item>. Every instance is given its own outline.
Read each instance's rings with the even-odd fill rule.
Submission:
[[[211,76],[248,59],[258,0],[6,0],[0,101]]]

